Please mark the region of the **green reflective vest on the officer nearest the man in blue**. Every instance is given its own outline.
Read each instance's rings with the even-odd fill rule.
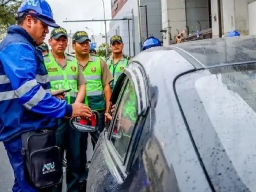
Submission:
[[[75,102],[78,92],[78,64],[76,58],[66,57],[69,57],[69,60],[67,60],[65,70],[57,64],[51,54],[44,56],[44,65],[50,78],[51,91],[71,89],[70,92],[66,93],[65,99],[68,104],[72,104]]]

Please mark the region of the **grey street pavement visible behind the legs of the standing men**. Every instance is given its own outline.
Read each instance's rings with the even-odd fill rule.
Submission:
[[[87,149],[87,160],[92,158],[92,142],[90,136],[88,137],[88,149]],[[65,169],[64,169],[65,171]],[[63,181],[63,192],[66,191],[66,180],[64,173],[64,181]],[[12,171],[12,167],[10,165],[9,159],[6,154],[6,150],[4,149],[4,145],[0,142],[0,192],[12,192],[12,186],[14,183],[14,175]]]

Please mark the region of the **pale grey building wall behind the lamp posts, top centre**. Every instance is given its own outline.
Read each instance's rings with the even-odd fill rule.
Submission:
[[[148,34],[152,34],[156,38],[161,40],[162,34],[162,13],[160,0],[140,0],[140,5],[147,5],[148,15]],[[135,29],[135,54],[140,52],[140,40],[138,31],[138,9],[137,0],[128,0],[122,9],[116,14],[114,19],[132,18],[132,9],[134,9],[134,29]],[[142,40],[146,39],[146,17],[145,8],[141,7],[141,25],[142,25]],[[131,56],[133,52],[133,40],[132,40],[132,20],[130,20],[130,52]],[[111,21],[110,30],[108,32],[108,43],[110,43],[111,36],[116,34],[122,36],[124,42],[124,54],[129,55],[129,38],[128,38],[128,21]],[[118,33],[119,32],[119,33]],[[143,42],[142,42],[143,43]]]

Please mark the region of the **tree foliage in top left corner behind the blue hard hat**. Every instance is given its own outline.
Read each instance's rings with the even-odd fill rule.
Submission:
[[[0,0],[0,34],[15,24],[15,14],[22,0]]]

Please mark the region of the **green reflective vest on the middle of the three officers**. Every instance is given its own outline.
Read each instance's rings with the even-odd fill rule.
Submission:
[[[86,78],[85,104],[92,110],[104,110],[105,98],[101,81],[100,57],[91,55],[93,62],[88,62],[88,66],[83,71]]]

